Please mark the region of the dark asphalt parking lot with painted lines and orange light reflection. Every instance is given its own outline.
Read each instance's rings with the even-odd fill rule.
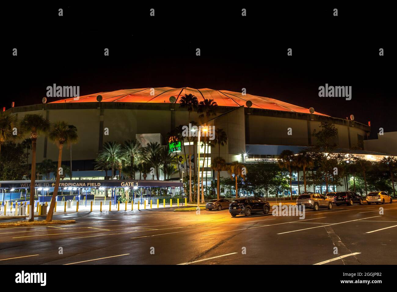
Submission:
[[[173,209],[79,212],[54,216],[76,224],[0,228],[0,264],[397,264],[396,203],[307,210],[303,220]]]

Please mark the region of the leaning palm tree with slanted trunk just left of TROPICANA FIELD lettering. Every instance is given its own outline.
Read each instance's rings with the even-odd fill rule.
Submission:
[[[58,121],[51,124],[50,130],[48,130],[48,139],[53,141],[59,149],[58,152],[58,167],[56,170],[56,179],[55,179],[55,186],[54,191],[52,192],[52,199],[50,208],[48,210],[46,221],[52,221],[52,215],[54,214],[54,207],[55,207],[55,198],[58,195],[58,188],[59,188],[59,180],[60,180],[60,168],[62,164],[62,150],[64,148],[64,144],[73,143],[77,141],[77,128],[76,127],[69,127],[70,125],[64,121]],[[63,172],[63,170],[62,170]]]

